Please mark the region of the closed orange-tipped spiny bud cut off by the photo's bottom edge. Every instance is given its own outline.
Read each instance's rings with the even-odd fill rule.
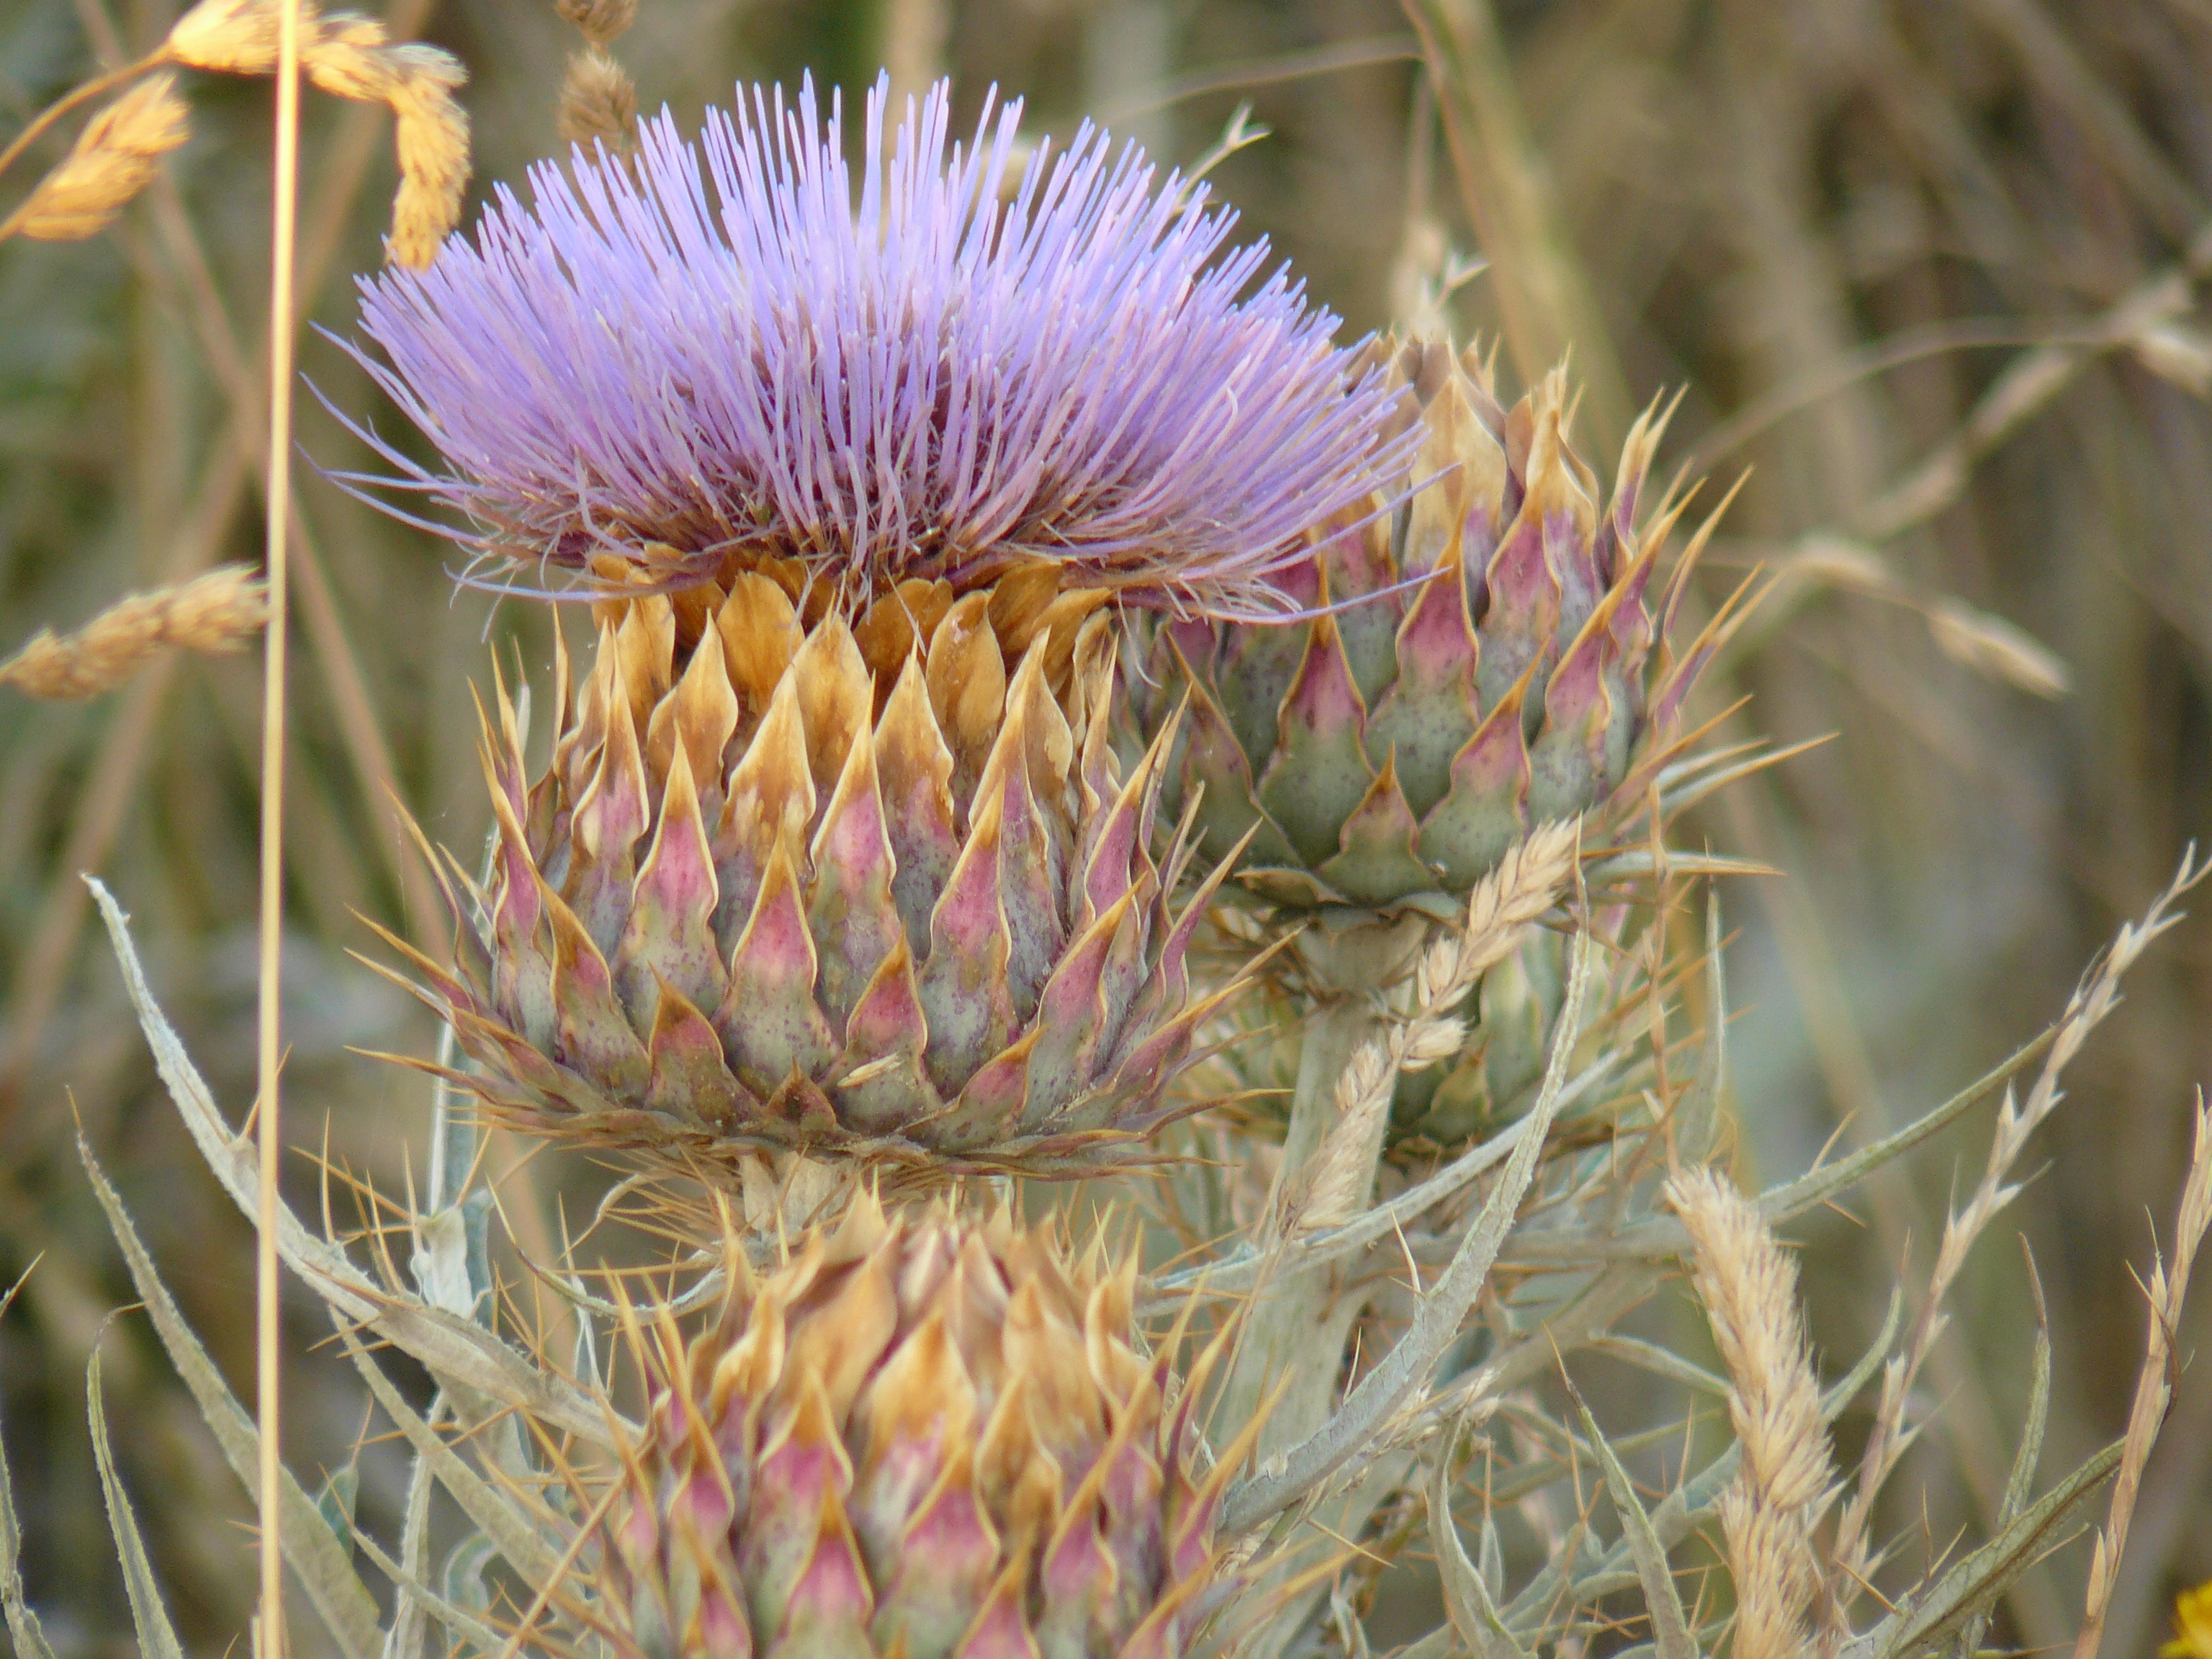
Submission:
[[[1197,1462],[1199,1389],[1139,1354],[1135,1263],[863,1199],[732,1276],[708,1334],[641,1338],[650,1425],[602,1535],[617,1652],[1190,1652],[1245,1447]]]

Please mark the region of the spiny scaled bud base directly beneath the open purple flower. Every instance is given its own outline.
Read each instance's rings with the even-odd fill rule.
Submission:
[[[456,1082],[723,1177],[1139,1157],[1225,995],[1186,969],[1223,872],[1170,914],[1192,849],[1152,858],[1166,741],[1126,776],[1113,752],[1104,595],[909,580],[847,622],[794,564],[726,582],[597,606],[535,783],[500,692],[491,883],[453,971],[409,951]]]

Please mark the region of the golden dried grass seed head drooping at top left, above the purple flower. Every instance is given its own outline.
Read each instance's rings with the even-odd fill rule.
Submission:
[[[168,31],[161,53],[192,69],[268,75],[276,69],[281,22],[279,0],[201,0]],[[374,18],[312,7],[301,7],[299,60],[307,80],[332,97],[392,108],[400,188],[385,257],[427,265],[460,223],[469,186],[469,117],[453,100],[467,73],[436,46],[394,46]]]

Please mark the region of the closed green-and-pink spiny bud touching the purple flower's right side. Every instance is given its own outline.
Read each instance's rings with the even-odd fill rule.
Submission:
[[[1655,593],[1683,511],[1639,522],[1657,405],[1606,500],[1564,372],[1504,409],[1473,352],[1376,349],[1418,409],[1411,473],[1285,573],[1307,622],[1164,624],[1133,699],[1152,734],[1190,688],[1164,803],[1194,803],[1212,854],[1252,836],[1265,900],[1449,918],[1533,825],[1641,799],[1739,611],[1666,648],[1710,524]]]

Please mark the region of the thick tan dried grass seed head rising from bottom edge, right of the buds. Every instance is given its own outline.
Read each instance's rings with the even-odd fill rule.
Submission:
[[[1679,1172],[1666,1192],[1690,1230],[1690,1281],[1728,1367],[1728,1416],[1743,1447],[1719,1504],[1736,1582],[1734,1659],[1801,1659],[1812,1650],[1805,1615],[1820,1590],[1812,1522],[1829,1491],[1829,1453],[1796,1263],[1759,1208],[1712,1170]]]

